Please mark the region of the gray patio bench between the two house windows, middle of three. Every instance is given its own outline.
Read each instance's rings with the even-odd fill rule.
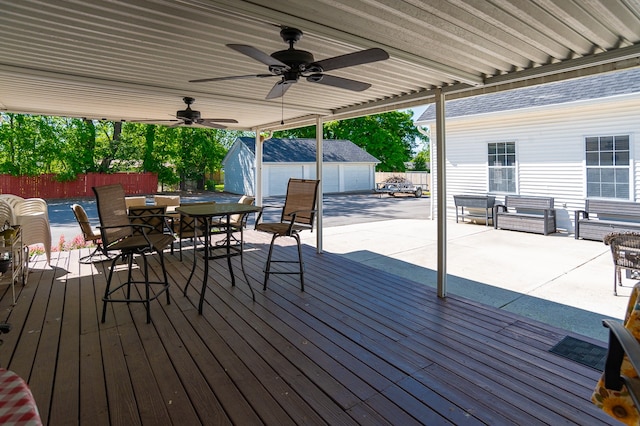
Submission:
[[[507,195],[495,206],[494,228],[548,235],[556,232],[553,197]]]

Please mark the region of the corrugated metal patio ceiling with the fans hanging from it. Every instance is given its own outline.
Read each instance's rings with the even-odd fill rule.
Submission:
[[[296,49],[316,60],[380,47],[390,59],[330,72],[363,92],[301,80],[189,80],[267,72],[225,46]],[[183,96],[232,128],[309,123],[640,65],[636,0],[0,0],[0,108],[111,120],[165,120]]]

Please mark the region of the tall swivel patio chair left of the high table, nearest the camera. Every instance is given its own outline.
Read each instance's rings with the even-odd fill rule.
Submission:
[[[100,235],[104,250],[117,251],[118,254],[111,261],[107,286],[104,292],[102,322],[107,315],[107,303],[142,303],[147,311],[147,323],[151,322],[151,301],[157,299],[162,293],[169,298],[169,280],[164,265],[163,251],[173,243],[173,235],[158,232],[151,225],[140,224],[131,221],[127,215],[124,189],[122,185],[105,185],[93,188],[96,195],[98,215],[100,216]],[[147,256],[158,254],[158,260],[162,267],[162,281],[151,281],[149,278],[149,265]],[[141,255],[143,280],[133,278],[133,259],[135,255]],[[127,262],[127,279],[115,288],[111,288],[113,272],[118,260]],[[143,285],[141,296],[136,298],[131,295],[132,285]],[[151,286],[156,287],[156,292],[151,292]],[[126,290],[125,295],[118,296],[116,292]]]

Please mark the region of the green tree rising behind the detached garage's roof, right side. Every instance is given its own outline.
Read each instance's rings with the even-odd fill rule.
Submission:
[[[393,111],[324,123],[323,138],[348,139],[380,160],[377,171],[404,171],[418,141],[428,138],[413,124],[411,111]],[[275,133],[276,137],[315,138],[315,126]]]

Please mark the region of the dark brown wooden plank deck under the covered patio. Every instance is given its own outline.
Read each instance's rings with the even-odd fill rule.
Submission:
[[[166,255],[176,285],[151,324],[121,303],[100,323],[87,250],[38,258],[15,307],[0,289],[0,365],[49,425],[613,424],[589,400],[599,373],[548,351],[567,333],[308,246],[306,291],[276,276],[263,292],[266,238],[245,236],[256,301],[211,261],[203,315],[181,292],[192,251]]]

